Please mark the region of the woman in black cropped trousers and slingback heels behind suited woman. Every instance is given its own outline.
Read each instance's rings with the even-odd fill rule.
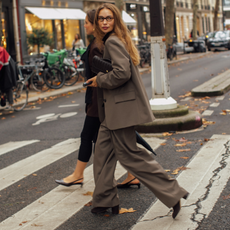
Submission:
[[[85,18],[85,30],[87,35],[94,35],[94,17],[96,10],[90,10],[86,14]],[[95,76],[91,72],[92,59],[95,55],[102,57],[104,47],[98,48],[95,38],[89,44],[86,52],[82,55],[81,60],[85,62],[85,76],[87,79],[91,79]],[[61,180],[55,180],[56,183],[64,186],[83,185],[84,170],[92,154],[92,145],[97,140],[97,134],[100,127],[100,120],[98,117],[98,105],[97,105],[97,89],[87,87],[85,94],[86,103],[86,117],[84,121],[83,130],[81,132],[81,145],[78,154],[78,160],[74,172]],[[118,186],[120,188],[127,188],[132,185],[140,187],[140,182],[133,175],[128,173],[128,177],[122,184]]]

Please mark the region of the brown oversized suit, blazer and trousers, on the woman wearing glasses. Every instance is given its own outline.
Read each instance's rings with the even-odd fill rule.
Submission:
[[[114,171],[117,161],[167,207],[188,192],[169,178],[145,149],[136,145],[135,126],[155,118],[137,66],[122,41],[112,33],[103,38],[103,58],[113,70],[97,75],[98,113],[101,122],[94,155],[94,207],[119,205]]]

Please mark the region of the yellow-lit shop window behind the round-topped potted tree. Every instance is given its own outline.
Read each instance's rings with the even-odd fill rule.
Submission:
[[[26,34],[32,33],[33,28],[45,28],[49,31],[50,34],[53,34],[51,20],[42,20],[29,12],[25,13],[25,26],[26,26]],[[40,48],[40,52],[46,52],[52,50],[53,48],[54,48],[53,45],[51,47],[45,45],[44,47]],[[28,47],[28,54],[33,55],[37,53],[38,53],[37,45]]]

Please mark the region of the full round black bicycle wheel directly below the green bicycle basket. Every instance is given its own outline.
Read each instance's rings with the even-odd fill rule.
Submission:
[[[65,83],[64,74],[55,67],[46,69],[43,77],[46,85],[51,89],[60,89]]]

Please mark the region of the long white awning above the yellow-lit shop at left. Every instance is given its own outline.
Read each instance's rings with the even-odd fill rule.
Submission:
[[[84,20],[86,13],[80,9],[26,7],[32,14],[43,20],[75,19]]]

